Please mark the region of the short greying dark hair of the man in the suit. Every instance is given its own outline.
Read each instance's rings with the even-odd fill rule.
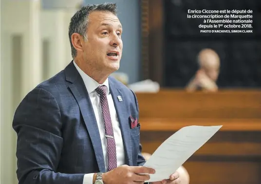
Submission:
[[[116,9],[116,3],[90,4],[81,7],[81,9],[75,13],[75,15],[71,18],[71,22],[69,25],[69,40],[71,43],[73,58],[76,57],[77,51],[72,44],[71,37],[73,33],[78,33],[79,35],[83,36],[84,41],[87,41],[87,26],[90,13],[93,11],[108,11],[117,16]]]

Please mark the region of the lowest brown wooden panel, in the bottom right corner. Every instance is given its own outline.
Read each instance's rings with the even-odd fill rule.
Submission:
[[[187,162],[190,184],[260,184],[261,163]]]

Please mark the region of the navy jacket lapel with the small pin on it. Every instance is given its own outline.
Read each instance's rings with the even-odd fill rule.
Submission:
[[[109,78],[109,84],[110,84],[110,92],[112,93],[112,99],[114,102],[115,110],[120,123],[121,134],[122,134],[122,139],[123,139],[123,144],[125,149],[126,164],[132,165],[132,154],[131,154],[132,148],[131,148],[131,141],[130,141],[131,139],[130,139],[130,131],[129,131],[130,125],[128,120],[129,115],[127,114],[127,109],[126,109],[126,101],[121,90],[117,88],[117,86],[112,82],[112,80],[110,80],[110,78]],[[118,96],[122,98],[122,101],[118,99]]]

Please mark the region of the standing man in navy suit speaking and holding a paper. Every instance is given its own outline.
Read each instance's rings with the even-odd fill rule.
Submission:
[[[72,17],[74,60],[29,92],[14,116],[19,184],[142,184],[155,172],[142,166],[136,96],[109,77],[119,68],[121,34],[116,4]],[[158,183],[179,182],[174,172]]]

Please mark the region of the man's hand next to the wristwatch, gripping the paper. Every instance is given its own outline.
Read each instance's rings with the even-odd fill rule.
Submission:
[[[149,180],[148,174],[154,173],[155,170],[149,167],[121,165],[103,173],[102,180],[104,184],[143,184]]]

